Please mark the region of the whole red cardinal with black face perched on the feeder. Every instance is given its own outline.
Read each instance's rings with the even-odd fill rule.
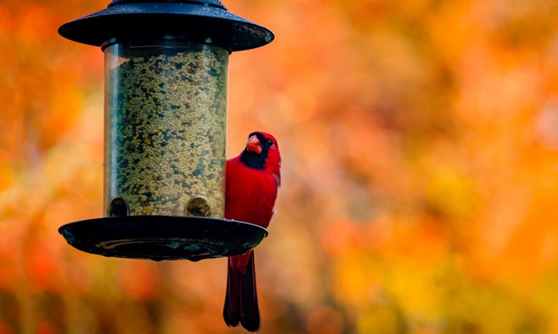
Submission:
[[[246,149],[227,160],[225,218],[268,227],[281,184],[280,167],[277,140],[265,132],[250,133]],[[229,257],[228,271],[225,323],[259,331],[253,250]]]

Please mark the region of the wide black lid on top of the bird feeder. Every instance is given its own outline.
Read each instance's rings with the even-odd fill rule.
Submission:
[[[270,43],[273,33],[230,13],[219,0],[114,0],[106,9],[63,24],[61,36],[102,46],[113,38],[181,36],[229,51]]]

